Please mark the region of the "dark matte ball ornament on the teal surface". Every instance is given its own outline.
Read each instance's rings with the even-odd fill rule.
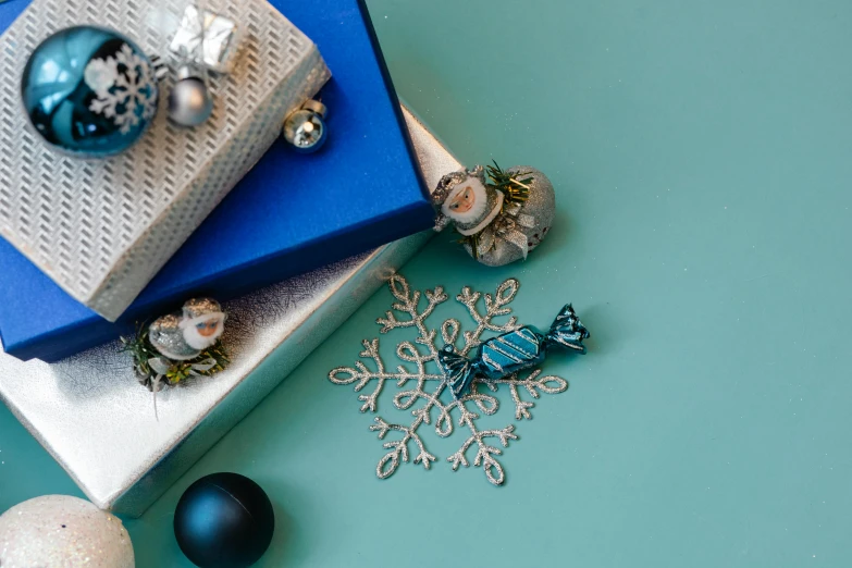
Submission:
[[[174,535],[201,568],[251,566],[267,552],[275,530],[272,503],[260,485],[238,473],[213,473],[177,502]]]

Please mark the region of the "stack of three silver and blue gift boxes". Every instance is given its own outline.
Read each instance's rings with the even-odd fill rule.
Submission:
[[[429,238],[428,188],[459,164],[400,108],[358,0],[78,4],[0,5],[0,397],[94,503],[139,515]],[[162,102],[189,13],[219,26],[199,52],[234,58],[194,127]],[[166,61],[147,132],[97,160],[58,153],[20,102],[32,52],[77,25]],[[328,143],[298,153],[277,133],[311,99]],[[231,362],[155,413],[118,338],[194,297],[239,322]]]

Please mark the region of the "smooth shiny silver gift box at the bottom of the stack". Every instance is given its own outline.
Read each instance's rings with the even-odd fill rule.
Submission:
[[[460,165],[416,119],[405,116],[425,181],[435,187]],[[420,233],[227,302],[223,341],[231,366],[212,379],[161,392],[159,421],[151,394],[136,381],[118,343],[53,365],[0,353],[0,398],[92,503],[139,516],[431,235]],[[90,432],[98,435],[84,435]]]

